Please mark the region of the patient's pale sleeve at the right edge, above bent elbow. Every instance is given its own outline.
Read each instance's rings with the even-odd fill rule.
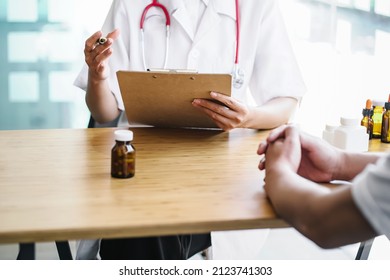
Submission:
[[[352,184],[357,207],[379,235],[390,239],[390,154],[367,166]]]

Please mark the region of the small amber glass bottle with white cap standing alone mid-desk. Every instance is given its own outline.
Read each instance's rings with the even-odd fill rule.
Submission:
[[[130,178],[135,174],[135,148],[131,144],[133,132],[115,131],[115,145],[111,150],[111,176]]]

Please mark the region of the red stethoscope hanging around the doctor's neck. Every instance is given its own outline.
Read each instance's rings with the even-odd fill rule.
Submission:
[[[239,54],[239,46],[240,46],[240,11],[238,0],[235,0],[236,4],[236,50],[235,50],[235,58],[234,58],[234,67],[232,71],[232,83],[233,86],[237,89],[241,88],[244,84],[244,71],[240,69],[238,65],[238,54]],[[146,59],[145,59],[145,35],[144,35],[144,24],[145,17],[151,7],[160,8],[165,15],[165,26],[166,26],[166,35],[165,35],[165,58],[164,58],[164,66],[163,69],[167,68],[168,63],[168,51],[169,51],[169,37],[170,37],[170,25],[171,25],[171,17],[169,16],[169,12],[167,8],[158,2],[158,0],[152,0],[152,3],[147,5],[142,12],[141,21],[140,21],[140,30],[141,30],[141,49],[142,49],[142,62],[144,65],[145,71],[148,69],[146,67]]]

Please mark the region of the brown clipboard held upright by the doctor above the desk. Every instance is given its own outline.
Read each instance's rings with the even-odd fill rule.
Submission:
[[[230,74],[118,71],[117,78],[130,124],[218,128],[191,103],[195,98],[211,100],[211,91],[231,96]]]

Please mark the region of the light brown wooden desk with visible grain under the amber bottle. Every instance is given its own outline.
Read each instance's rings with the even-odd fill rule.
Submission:
[[[136,175],[114,179],[113,131],[0,131],[0,243],[287,226],[257,169],[268,132],[133,129]]]

